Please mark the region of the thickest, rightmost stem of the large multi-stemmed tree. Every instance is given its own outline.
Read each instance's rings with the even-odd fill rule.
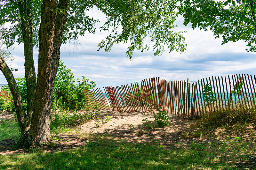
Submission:
[[[57,8],[64,10],[57,14]],[[30,146],[49,141],[52,92],[57,74],[61,37],[68,16],[68,0],[43,0],[39,29],[39,56],[36,102],[28,141]]]

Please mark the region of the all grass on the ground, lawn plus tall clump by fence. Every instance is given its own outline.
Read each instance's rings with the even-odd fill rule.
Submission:
[[[74,122],[76,117],[81,118],[70,114],[68,118],[55,116],[53,133],[71,133],[74,127],[61,120]],[[212,112],[193,121],[194,129],[183,134],[185,140],[186,136],[190,140],[195,137],[194,142],[165,146],[156,140],[131,143],[106,134],[81,134],[87,142],[79,148],[50,153],[31,148],[26,154],[0,155],[0,169],[246,169],[243,162],[256,156],[255,117],[253,109]],[[58,123],[61,124],[57,127]],[[9,133],[8,128],[13,131],[5,139],[14,137],[19,128],[14,120],[0,123],[0,127],[6,129],[5,134]],[[256,170],[256,165],[250,168]]]

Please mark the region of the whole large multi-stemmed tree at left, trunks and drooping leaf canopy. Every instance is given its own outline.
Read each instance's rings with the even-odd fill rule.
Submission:
[[[14,41],[24,44],[27,113],[12,72],[0,56],[0,70],[10,86],[20,125],[18,144],[29,147],[49,140],[52,91],[60,46],[83,36],[85,31],[94,33],[94,26],[99,22],[86,11],[97,7],[106,14],[107,21],[100,29],[110,34],[99,43],[99,48],[110,51],[114,43],[129,42],[127,55],[131,59],[135,49],[143,51],[151,44],[154,55],[162,54],[164,46],[170,51],[185,50],[182,32],[172,30],[177,12],[168,5],[170,3],[167,0],[2,0],[0,24],[10,22],[12,25],[1,30],[4,42],[8,46]],[[118,27],[122,27],[121,32]],[[151,42],[145,44],[147,36]],[[37,81],[33,47],[39,48]]]

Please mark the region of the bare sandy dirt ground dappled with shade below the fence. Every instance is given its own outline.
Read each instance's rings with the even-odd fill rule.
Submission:
[[[149,121],[154,121],[153,115],[160,110],[151,110],[146,112],[116,112],[103,110],[100,114],[100,119],[105,122],[107,115],[111,116],[111,120],[106,123],[101,123],[96,126],[97,120],[86,122],[83,125],[77,126],[73,133],[58,134],[58,140],[54,140],[54,146],[42,145],[40,149],[44,152],[51,152],[54,150],[65,150],[69,148],[75,148],[83,146],[88,139],[82,138],[81,133],[91,134],[109,134],[114,137],[126,139],[127,142],[160,142],[165,147],[174,147],[178,142],[182,144],[191,143],[196,139],[184,138],[182,135],[184,132],[189,131],[189,124],[191,122],[182,120],[175,115],[167,115],[170,121],[170,127],[146,129],[143,126],[143,119],[148,118]],[[12,112],[4,112],[0,114],[0,122],[14,118],[15,115]],[[154,122],[156,124],[156,122]],[[0,142],[0,154],[15,154],[26,153],[28,150],[19,149],[14,147],[16,143],[15,139],[4,140]]]

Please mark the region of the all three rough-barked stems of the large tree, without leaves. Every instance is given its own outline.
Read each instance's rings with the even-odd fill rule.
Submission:
[[[31,2],[26,4],[26,0],[18,1],[24,41],[28,92],[27,114],[12,72],[0,56],[0,70],[11,89],[20,125],[21,137],[18,143],[24,147],[49,141],[52,92],[59,66],[61,37],[67,21],[69,0],[43,0],[42,2],[37,83],[33,60],[33,26],[30,5]]]

